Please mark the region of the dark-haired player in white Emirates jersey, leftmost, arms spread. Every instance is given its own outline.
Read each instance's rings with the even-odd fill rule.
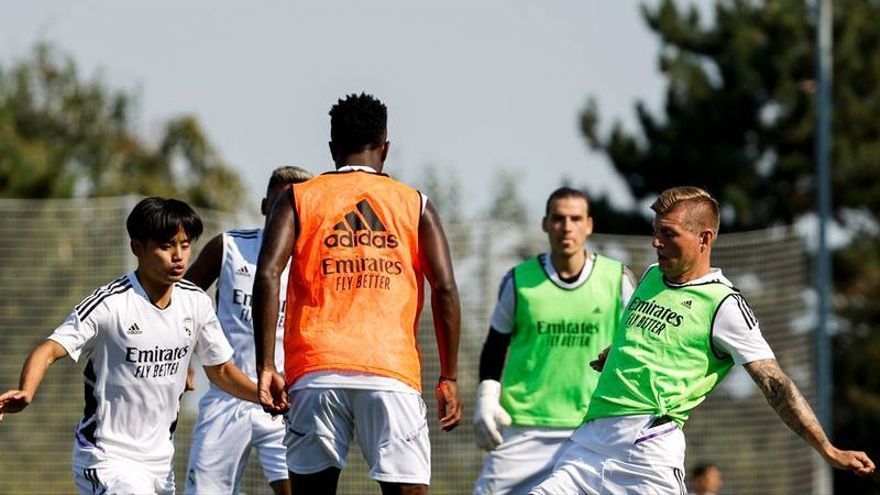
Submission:
[[[0,419],[34,399],[49,366],[85,361],[85,408],[73,474],[83,494],[174,493],[174,429],[193,354],[227,392],[256,400],[231,360],[211,299],[183,280],[202,221],[186,203],[147,198],[126,226],[137,269],[97,289],[28,356],[19,387],[0,394]]]

